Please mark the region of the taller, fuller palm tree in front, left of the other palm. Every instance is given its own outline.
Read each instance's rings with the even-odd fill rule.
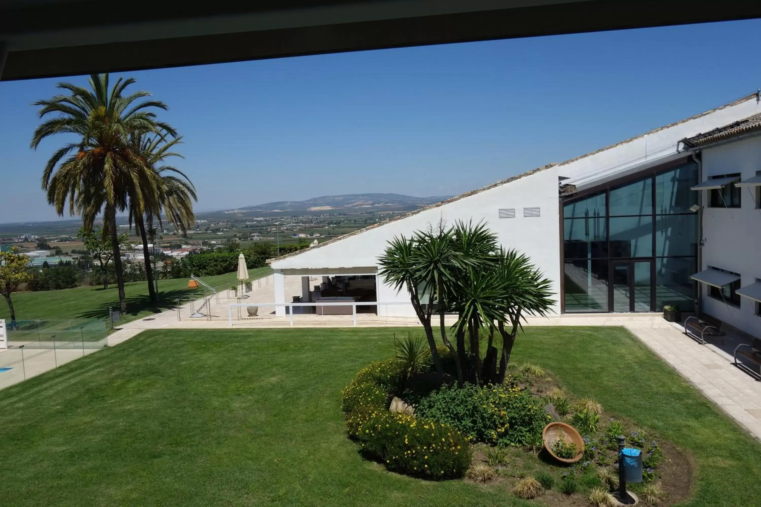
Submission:
[[[68,204],[69,214],[79,214],[87,230],[102,214],[103,234],[110,236],[113,247],[119,306],[126,312],[116,213],[131,207],[145,209],[146,192],[158,192],[159,179],[135,152],[130,136],[155,132],[175,137],[177,133],[170,125],[157,121],[149,110],[167,109],[164,103],[141,100],[150,97],[147,91],[123,94],[135,83],[134,79],[119,78],[110,87],[108,74],[92,74],[88,83],[89,89],[59,83],[57,87],[67,93],[34,103],[40,106],[40,119],[56,116],[37,127],[30,146],[36,150],[43,139],[53,135],[77,136],[77,141],[68,142],[50,157],[42,186],[48,203],[59,215],[64,214]]]

